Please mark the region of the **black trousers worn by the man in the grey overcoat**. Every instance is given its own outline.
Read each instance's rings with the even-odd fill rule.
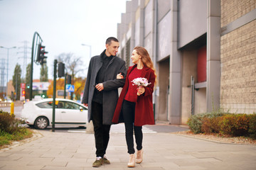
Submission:
[[[102,114],[102,104],[92,101],[92,123],[95,131],[96,157],[103,158],[110,140],[111,125],[102,124]]]

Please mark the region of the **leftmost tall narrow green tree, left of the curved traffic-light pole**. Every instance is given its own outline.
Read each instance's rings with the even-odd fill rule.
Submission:
[[[16,64],[16,67],[14,69],[12,85],[15,88],[16,100],[18,100],[21,94],[21,65],[19,65],[18,63]]]

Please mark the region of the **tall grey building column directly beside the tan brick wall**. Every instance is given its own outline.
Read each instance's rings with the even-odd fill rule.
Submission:
[[[220,0],[207,1],[207,111],[220,106]]]

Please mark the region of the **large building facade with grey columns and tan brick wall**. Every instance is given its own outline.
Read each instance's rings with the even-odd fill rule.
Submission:
[[[148,50],[158,74],[156,120],[186,124],[219,108],[256,112],[256,0],[132,0],[118,23],[119,56]]]

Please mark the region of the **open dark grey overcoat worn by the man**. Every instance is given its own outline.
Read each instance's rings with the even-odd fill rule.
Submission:
[[[95,91],[95,81],[97,73],[102,67],[101,56],[104,55],[105,51],[106,50],[104,50],[101,55],[92,57],[89,64],[85,89],[82,96],[82,103],[88,103],[88,122],[92,120],[92,97]],[[124,79],[117,79],[117,74],[119,74],[120,72],[124,73]],[[125,67],[124,60],[116,56],[112,57],[112,60],[110,60],[110,63],[107,65],[104,82],[102,82],[104,87],[104,90],[102,91],[103,125],[112,124],[114,109],[116,108],[118,101],[117,89],[124,86],[126,74],[127,69]]]

